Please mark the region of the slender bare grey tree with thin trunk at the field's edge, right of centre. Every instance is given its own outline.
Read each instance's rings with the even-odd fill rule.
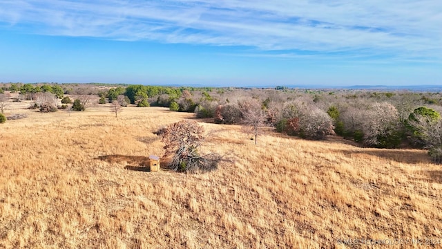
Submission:
[[[262,127],[267,126],[267,115],[261,109],[257,101],[249,102],[246,109],[242,109],[242,122],[246,125],[244,131],[252,133],[255,136],[255,145],[257,143],[258,134],[261,133]]]

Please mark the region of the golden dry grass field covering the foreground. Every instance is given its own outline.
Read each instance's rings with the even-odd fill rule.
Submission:
[[[254,145],[239,126],[202,122],[217,130],[206,149],[233,153],[235,163],[148,172],[147,157],[164,153],[152,132],[191,113],[126,107],[115,118],[105,105],[10,113],[29,117],[0,124],[0,248],[345,248],[337,239],[442,238],[442,167],[425,151],[272,131]]]

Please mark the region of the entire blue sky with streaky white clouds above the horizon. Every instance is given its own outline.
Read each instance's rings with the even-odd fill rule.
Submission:
[[[442,85],[439,0],[1,0],[0,82]]]

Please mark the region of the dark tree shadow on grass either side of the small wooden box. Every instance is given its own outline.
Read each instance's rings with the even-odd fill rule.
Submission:
[[[95,158],[107,163],[126,163],[125,169],[138,172],[151,172],[150,160],[148,156],[125,156],[125,155],[106,155]],[[168,158],[160,158],[160,168],[169,169]]]

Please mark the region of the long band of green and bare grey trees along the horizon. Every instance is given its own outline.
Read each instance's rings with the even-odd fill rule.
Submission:
[[[52,93],[57,98],[64,94],[98,95],[100,104],[124,100],[122,103],[130,102],[137,107],[168,107],[223,124],[242,124],[247,121],[244,113],[258,108],[253,113],[262,113],[267,126],[291,136],[325,139],[337,134],[367,147],[425,147],[442,158],[442,95],[437,92],[98,83],[1,86],[1,91],[17,92],[28,96],[28,100],[40,92]]]

